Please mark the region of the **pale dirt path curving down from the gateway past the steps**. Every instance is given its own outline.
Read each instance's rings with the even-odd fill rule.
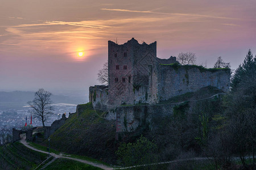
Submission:
[[[46,152],[46,151],[38,150],[38,149],[28,145],[28,143],[26,141],[26,135],[25,134],[20,135],[20,137],[21,137],[20,143],[22,143],[24,146],[30,148],[31,150],[42,152],[44,154],[48,154],[48,152]],[[114,169],[114,168],[111,168],[111,167],[107,167],[104,164],[94,163],[94,162],[90,162],[88,160],[82,160],[82,159],[77,159],[77,158],[70,158],[70,157],[67,157],[67,156],[57,155],[57,154],[54,154],[54,153],[50,153],[50,155],[52,155],[55,158],[66,158],[66,159],[76,160],[78,162],[89,164],[89,165],[92,165],[93,167],[98,167],[98,168],[101,168],[101,169],[106,169],[106,170]]]

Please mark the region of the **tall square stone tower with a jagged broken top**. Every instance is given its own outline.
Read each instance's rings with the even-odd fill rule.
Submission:
[[[109,100],[112,106],[136,104],[148,89],[148,73],[156,64],[156,41],[139,44],[132,38],[125,44],[108,42]],[[142,93],[142,94],[141,94]]]

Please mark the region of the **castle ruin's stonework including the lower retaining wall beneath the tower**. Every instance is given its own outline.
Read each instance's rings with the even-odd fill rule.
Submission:
[[[107,120],[115,120],[116,139],[123,132],[154,127],[152,117],[173,114],[176,104],[159,105],[160,101],[207,86],[229,90],[230,69],[181,66],[176,57],[157,58],[156,42],[109,41],[108,61],[109,86],[89,87],[89,101],[106,112]]]

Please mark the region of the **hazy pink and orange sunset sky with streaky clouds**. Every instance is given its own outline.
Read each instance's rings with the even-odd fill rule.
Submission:
[[[256,54],[256,1],[0,0],[0,91],[80,91],[100,84],[108,40],[157,41],[157,57],[219,56],[236,69]],[[82,56],[79,56],[82,53]]]

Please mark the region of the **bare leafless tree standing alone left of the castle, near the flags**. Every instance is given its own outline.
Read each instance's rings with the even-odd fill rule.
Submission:
[[[32,108],[30,112],[34,114],[35,118],[42,121],[43,126],[45,126],[44,122],[48,120],[49,116],[53,114],[51,95],[50,92],[40,88],[35,92],[35,99],[28,101],[28,104]]]

